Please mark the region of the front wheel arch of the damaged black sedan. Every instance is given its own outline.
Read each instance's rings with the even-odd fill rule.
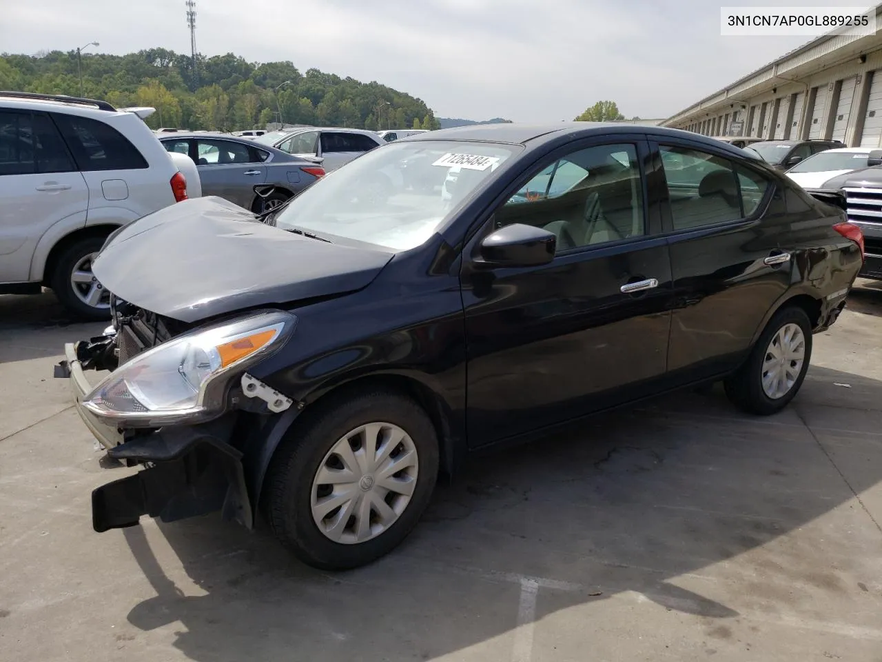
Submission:
[[[257,508],[262,498],[263,485],[276,450],[281,440],[289,434],[308,425],[312,418],[312,412],[319,410],[323,402],[333,402],[333,399],[345,398],[349,391],[377,388],[393,393],[405,395],[417,402],[429,416],[435,428],[438,440],[438,455],[440,469],[447,475],[452,475],[466,453],[466,440],[462,425],[457,421],[450,404],[437,389],[433,388],[425,380],[415,378],[413,375],[400,372],[375,372],[357,375],[352,379],[338,382],[331,387],[315,391],[310,396],[309,403],[298,409],[293,405],[289,410],[273,417],[269,425],[265,427],[265,433],[257,444],[249,444],[246,451],[246,462],[250,465],[246,471],[250,482],[252,503]]]

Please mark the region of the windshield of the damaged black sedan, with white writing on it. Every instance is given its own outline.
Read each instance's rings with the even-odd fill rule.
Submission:
[[[275,224],[407,251],[431,237],[515,149],[451,140],[392,142],[310,186]]]

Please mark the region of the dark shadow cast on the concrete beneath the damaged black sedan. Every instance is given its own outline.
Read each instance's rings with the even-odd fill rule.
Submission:
[[[828,440],[837,425],[818,418],[829,394],[878,413],[882,382],[817,366],[809,375],[774,417],[740,414],[714,387],[475,459],[438,485],[405,544],[345,573],[303,566],[265,527],[215,517],[159,525],[173,563],[159,560],[152,531],[123,530],[156,592],[128,620],[180,622],[175,645],[194,660],[430,659],[512,636],[525,590],[539,592],[537,621],[630,591],[725,638],[739,611],[708,574],[775,608],[802,590],[840,594],[841,575],[817,562],[840,543],[770,543],[882,478],[875,463],[843,481],[833,458],[848,454],[848,435]]]

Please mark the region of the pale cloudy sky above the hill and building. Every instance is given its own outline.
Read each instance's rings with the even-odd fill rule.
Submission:
[[[572,119],[601,99],[669,117],[806,37],[722,37],[721,4],[783,0],[197,0],[197,45],[377,80],[438,117]],[[856,0],[791,5],[855,6]],[[6,2],[0,49],[34,54],[99,41],[123,54],[189,53],[184,0]]]

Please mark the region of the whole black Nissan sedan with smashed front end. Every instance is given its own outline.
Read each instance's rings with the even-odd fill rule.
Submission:
[[[406,161],[441,184],[374,196]],[[262,222],[187,201],[111,237],[114,326],[58,366],[108,455],[145,465],[93,492],[94,529],[259,507],[305,562],[363,565],[475,451],[715,380],[780,411],[861,263],[841,207],[662,127],[432,132]]]

